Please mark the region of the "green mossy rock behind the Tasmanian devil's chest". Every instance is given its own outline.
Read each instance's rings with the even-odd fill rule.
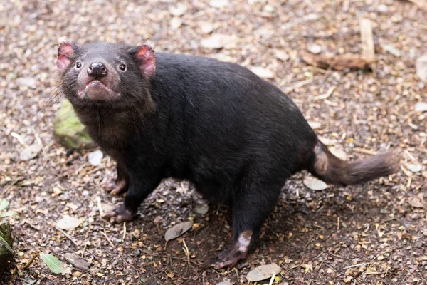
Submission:
[[[80,123],[70,101],[64,100],[56,113],[54,133],[61,145],[73,148],[94,148],[95,142],[90,138],[85,125]]]

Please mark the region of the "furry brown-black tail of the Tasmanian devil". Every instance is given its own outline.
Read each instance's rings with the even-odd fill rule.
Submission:
[[[389,150],[355,162],[346,162],[332,155],[318,141],[307,170],[319,179],[334,185],[353,185],[399,171],[401,150]]]

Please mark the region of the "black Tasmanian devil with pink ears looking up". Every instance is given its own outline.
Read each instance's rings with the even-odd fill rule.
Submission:
[[[398,169],[394,150],[355,162],[334,157],[290,98],[235,63],[67,41],[57,66],[90,136],[117,161],[113,192],[127,190],[107,217],[132,219],[164,177],[190,180],[206,199],[231,205],[233,243],[206,261],[216,269],[246,257],[295,172],[352,185]]]

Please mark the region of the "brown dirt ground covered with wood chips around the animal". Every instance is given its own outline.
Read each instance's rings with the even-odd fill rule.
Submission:
[[[415,61],[427,52],[427,11],[411,2],[185,0],[179,3],[186,9],[172,9],[172,0],[2,1],[0,198],[20,217],[9,218],[16,269],[0,276],[0,284],[251,284],[248,271],[272,262],[282,268],[275,284],[427,284],[427,120],[414,110],[426,101]],[[361,53],[361,16],[373,24],[374,72],[325,71],[300,60],[313,44],[325,54]],[[206,48],[212,28],[226,38],[223,48]],[[399,146],[406,150],[405,171],[323,191],[302,184],[307,173],[295,175],[246,261],[236,269],[205,269],[201,262],[228,246],[230,218],[214,204],[207,214],[194,214],[202,200],[189,182],[162,182],[125,227],[100,217],[98,200],[122,200],[103,189],[114,176],[113,162],[105,157],[93,167],[88,151],[67,150],[53,138],[62,100],[56,45],[65,38],[148,42],[156,51],[267,68],[268,80],[287,91],[347,159]],[[23,144],[37,141],[40,155],[20,161]],[[408,163],[423,170],[411,172]],[[67,232],[70,238],[55,227],[64,214],[84,219]],[[164,232],[188,219],[199,227],[164,247]],[[38,252],[64,262],[65,253],[76,253],[90,271],[53,274]]]

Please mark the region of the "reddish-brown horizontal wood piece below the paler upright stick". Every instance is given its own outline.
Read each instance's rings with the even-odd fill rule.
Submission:
[[[347,53],[342,56],[323,56],[321,54],[312,54],[307,51],[301,52],[302,61],[322,69],[332,68],[342,71],[345,68],[369,69],[369,61],[361,56]]]

